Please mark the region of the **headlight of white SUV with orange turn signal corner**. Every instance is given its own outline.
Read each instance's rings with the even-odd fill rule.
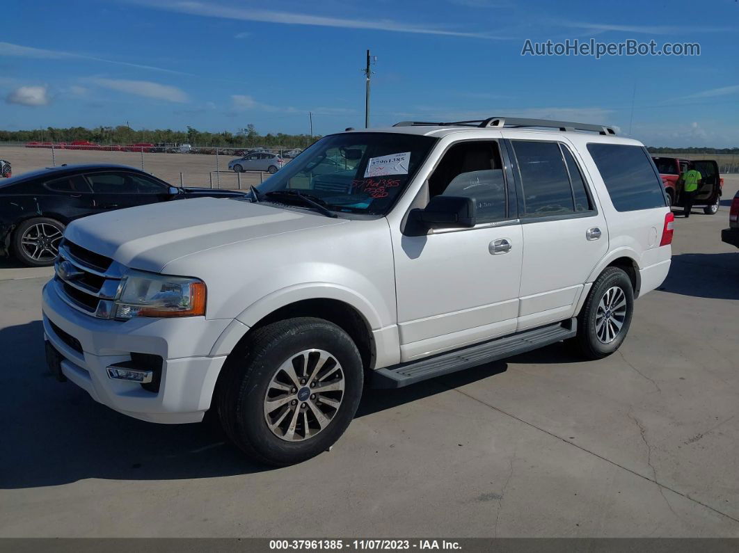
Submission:
[[[197,278],[129,271],[115,302],[115,318],[205,315],[205,283]]]

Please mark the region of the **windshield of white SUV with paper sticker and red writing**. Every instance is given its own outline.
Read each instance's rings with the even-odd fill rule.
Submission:
[[[382,215],[436,140],[418,134],[333,134],[259,185],[259,198],[282,203],[287,195],[280,192],[296,190],[330,210]]]

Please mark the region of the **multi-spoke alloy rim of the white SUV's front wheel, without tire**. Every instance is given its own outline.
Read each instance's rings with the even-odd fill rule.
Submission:
[[[313,438],[333,420],[344,399],[344,371],[322,349],[290,356],[273,374],[264,399],[265,422],[286,442]]]

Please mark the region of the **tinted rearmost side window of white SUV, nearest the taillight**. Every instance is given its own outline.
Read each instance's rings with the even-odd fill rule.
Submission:
[[[641,146],[591,142],[588,151],[598,166],[610,201],[617,211],[667,205],[661,179]]]

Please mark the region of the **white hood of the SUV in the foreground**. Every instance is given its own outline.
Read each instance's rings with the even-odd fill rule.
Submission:
[[[213,247],[344,222],[273,205],[197,198],[85,217],[69,224],[64,236],[126,267],[160,272],[170,261]]]

